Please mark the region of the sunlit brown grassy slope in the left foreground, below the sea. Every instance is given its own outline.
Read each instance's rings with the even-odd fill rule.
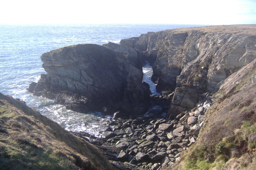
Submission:
[[[0,94],[0,169],[111,170],[100,151],[84,139]]]

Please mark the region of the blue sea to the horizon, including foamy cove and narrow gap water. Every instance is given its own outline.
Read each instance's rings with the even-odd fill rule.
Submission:
[[[69,131],[83,131],[101,137],[111,115],[77,113],[54,100],[33,96],[26,88],[37,82],[42,68],[41,54],[69,45],[108,42],[139,37],[140,34],[201,25],[160,24],[84,24],[84,25],[0,25],[0,92],[26,102],[31,108],[52,119]],[[148,63],[143,67],[143,81],[153,94],[160,95],[151,81]]]

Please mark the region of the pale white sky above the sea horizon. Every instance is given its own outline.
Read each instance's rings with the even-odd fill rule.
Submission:
[[[2,0],[0,24],[256,24],[256,0]]]

